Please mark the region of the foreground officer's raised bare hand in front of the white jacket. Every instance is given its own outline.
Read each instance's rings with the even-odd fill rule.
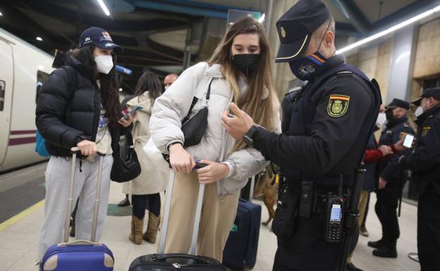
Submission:
[[[241,139],[255,122],[245,111],[241,111],[235,103],[231,103],[229,109],[231,109],[235,116],[231,117],[228,112],[225,112],[221,116],[221,122],[223,122],[226,131],[228,131],[233,138]]]

